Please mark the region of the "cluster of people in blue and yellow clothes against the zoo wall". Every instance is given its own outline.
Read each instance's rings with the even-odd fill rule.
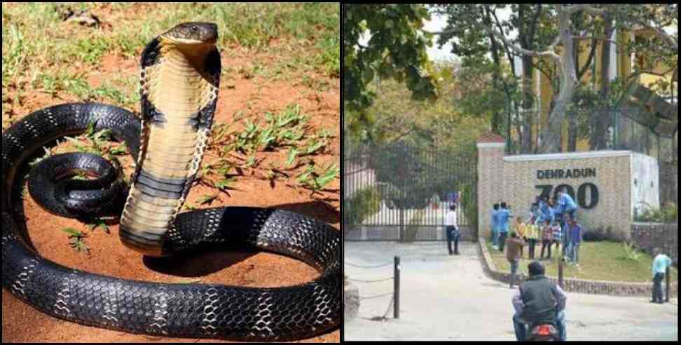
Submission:
[[[540,259],[551,258],[551,248],[555,245],[560,250],[563,244],[563,257],[579,267],[579,246],[582,244],[582,226],[577,224],[577,204],[570,194],[561,190],[557,200],[549,201],[546,196],[537,196],[530,206],[528,221],[516,217],[516,224],[507,239],[511,217],[511,207],[506,203],[497,203],[491,213],[493,248],[504,251],[504,246],[513,245],[507,251],[507,257],[523,257],[524,247],[528,245],[528,258],[535,258],[535,248],[542,245]],[[509,259],[511,261],[511,259]]]

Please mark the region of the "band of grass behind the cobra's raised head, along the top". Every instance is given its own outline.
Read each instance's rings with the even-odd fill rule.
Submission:
[[[287,80],[313,70],[332,78],[340,76],[339,4],[81,3],[67,6],[74,10],[90,9],[100,16],[106,13],[102,20],[112,27],[85,28],[62,22],[60,16],[64,10],[55,4],[3,4],[3,95],[10,90],[21,94],[37,89],[61,98],[70,94],[129,106],[139,102],[136,87],[104,85],[90,89],[84,76],[99,69],[102,56],[107,53],[137,58],[151,37],[179,22],[200,20],[219,25],[218,44],[225,55],[229,56],[235,46],[253,50],[252,68],[245,74]],[[130,11],[144,11],[144,15],[131,17]],[[276,59],[263,59],[256,54],[259,51]],[[76,68],[80,75],[72,74]],[[20,99],[13,100],[16,102]],[[3,107],[3,118],[5,115]]]

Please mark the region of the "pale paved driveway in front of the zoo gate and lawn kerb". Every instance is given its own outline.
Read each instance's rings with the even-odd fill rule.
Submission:
[[[390,297],[366,299],[359,318],[345,323],[347,340],[515,340],[508,285],[485,276],[477,243],[460,243],[449,256],[444,242],[345,243],[345,260],[376,265],[401,257],[400,318],[385,315]],[[359,269],[345,265],[350,278],[392,276],[392,265]],[[392,280],[353,283],[361,296],[392,291]],[[678,302],[652,304],[647,297],[610,297],[568,292],[568,340],[678,340]]]

